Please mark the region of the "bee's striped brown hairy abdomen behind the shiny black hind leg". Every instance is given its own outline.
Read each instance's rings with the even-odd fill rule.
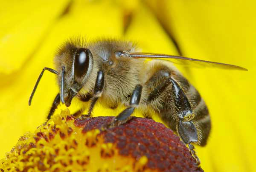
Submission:
[[[155,70],[156,68],[158,70]],[[196,90],[176,69],[168,68],[162,64],[154,66],[154,72],[151,73],[151,77],[145,83],[148,87],[148,95],[150,98],[148,99],[148,103],[153,109],[159,112],[162,120],[175,131],[178,117],[175,111],[173,87],[171,83],[166,86],[170,77],[181,87],[191,105],[192,113],[195,114],[192,121],[195,122],[198,130],[198,144],[204,146],[211,129],[208,108],[198,93],[198,90]],[[155,89],[159,91],[157,92]]]

